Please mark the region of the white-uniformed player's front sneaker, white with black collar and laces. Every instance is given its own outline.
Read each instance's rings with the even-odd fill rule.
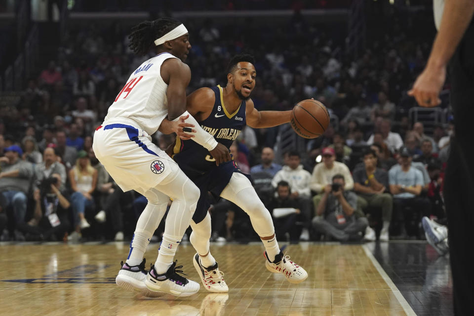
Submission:
[[[152,291],[175,296],[190,296],[197,293],[199,283],[178,275],[178,273],[183,273],[182,270],[178,270],[181,268],[183,266],[176,267],[175,261],[166,273],[159,275],[155,271],[155,266],[152,266],[147,274],[145,285]]]

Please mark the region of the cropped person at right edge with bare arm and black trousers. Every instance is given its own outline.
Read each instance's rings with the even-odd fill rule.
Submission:
[[[454,314],[464,316],[474,311],[474,0],[435,0],[434,11],[438,34],[426,68],[408,94],[422,107],[439,105],[449,62],[455,137],[444,178],[444,200]]]

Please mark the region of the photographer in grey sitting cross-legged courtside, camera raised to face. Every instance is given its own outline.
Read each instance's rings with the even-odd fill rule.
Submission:
[[[316,232],[339,241],[359,240],[368,225],[365,217],[356,218],[355,193],[345,191],[346,182],[342,174],[332,177],[332,185],[324,187],[321,200],[316,207],[313,228]]]

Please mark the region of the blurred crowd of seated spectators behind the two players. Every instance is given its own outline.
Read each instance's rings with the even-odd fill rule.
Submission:
[[[225,85],[229,59],[249,52],[259,111],[289,110],[309,98],[329,110],[330,126],[317,139],[296,136],[289,124],[246,127],[231,147],[272,213],[278,238],[423,238],[422,216],[445,217],[443,170],[454,121],[445,99],[443,119],[433,123],[413,115],[406,96],[431,48],[433,37],[417,33],[433,23],[430,14],[384,17],[359,54],[346,53],[347,30],[299,11],[279,23],[183,22],[192,44],[189,93]],[[128,33],[120,22],[68,29],[20,106],[0,109],[1,240],[131,236],[146,198],[122,192],[92,150],[95,128],[126,79],[153,56],[134,56]],[[288,145],[287,137],[297,141]],[[163,150],[174,142],[159,132],[153,138]],[[257,240],[236,205],[221,199],[209,211],[213,240]]]

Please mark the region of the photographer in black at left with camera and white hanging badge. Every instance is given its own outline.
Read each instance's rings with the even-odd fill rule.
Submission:
[[[68,231],[68,209],[71,203],[59,188],[61,176],[53,173],[44,178],[34,193],[35,211],[28,223],[21,223],[18,229],[27,240],[62,240]]]

